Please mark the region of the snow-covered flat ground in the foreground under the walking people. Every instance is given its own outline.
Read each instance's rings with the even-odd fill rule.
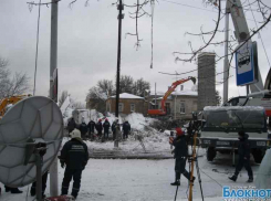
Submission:
[[[202,151],[200,151],[202,152]],[[205,200],[218,201],[222,197],[221,186],[247,186],[246,170],[242,170],[236,183],[227,178],[233,172],[229,155],[218,154],[213,162],[206,157],[199,158],[200,176]],[[259,166],[252,162],[257,177]],[[188,166],[187,166],[188,169]],[[63,169],[59,168],[59,187],[63,179]],[[196,176],[197,177],[197,176]],[[90,159],[83,171],[80,201],[160,201],[174,200],[176,188],[169,186],[174,180],[174,159],[167,160],[104,160]],[[187,200],[187,181],[181,178],[178,200]],[[253,186],[253,183],[252,183]],[[28,187],[22,188],[23,194],[2,192],[1,201],[25,200]],[[46,189],[49,195],[49,188]],[[198,177],[194,188],[194,200],[200,200]],[[197,198],[197,199],[196,199]],[[32,198],[28,200],[33,200]]]

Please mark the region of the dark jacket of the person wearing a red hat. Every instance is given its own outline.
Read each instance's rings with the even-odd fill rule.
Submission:
[[[178,159],[178,158],[187,157],[188,146],[187,146],[187,140],[185,135],[176,137],[173,141],[173,146],[175,147],[174,158]]]

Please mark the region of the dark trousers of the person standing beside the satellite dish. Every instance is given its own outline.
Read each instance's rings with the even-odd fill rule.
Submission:
[[[64,179],[62,182],[61,194],[67,194],[70,182],[73,179],[72,195],[76,198],[80,191],[81,176],[82,176],[82,169],[66,168],[64,173]]]

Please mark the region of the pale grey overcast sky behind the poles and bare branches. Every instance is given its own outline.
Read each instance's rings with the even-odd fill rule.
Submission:
[[[135,0],[126,0],[132,4]],[[135,32],[135,21],[128,18],[133,10],[125,8],[123,21],[122,45],[122,75],[131,75],[135,80],[143,77],[152,84],[154,89],[165,92],[167,86],[176,80],[175,76],[159,74],[158,72],[183,73],[195,70],[196,63],[175,62],[173,52],[187,52],[188,41],[192,41],[195,49],[202,43],[199,38],[185,35],[185,32],[198,33],[202,25],[205,31],[215,28],[216,10],[205,7],[202,0],[159,0],[154,13],[154,67],[150,66],[150,18],[143,17],[138,20],[139,38],[143,39],[140,47],[134,47],[136,39],[126,36],[127,32]],[[35,1],[38,2],[38,0]],[[42,0],[48,2],[48,0]],[[115,81],[117,63],[117,9],[111,4],[114,0],[90,0],[85,7],[85,0],[77,0],[73,8],[69,7],[70,0],[59,3],[59,89],[69,91],[73,98],[84,102],[88,88],[96,85],[97,81],[106,78]],[[195,9],[176,4],[198,7]],[[270,0],[263,0],[271,6]],[[225,3],[225,2],[223,2]],[[225,4],[223,4],[225,7]],[[146,8],[149,10],[149,7]],[[256,15],[260,19],[259,15]],[[41,8],[40,45],[37,75],[37,95],[48,95],[50,73],[50,18],[51,7]],[[247,12],[249,27],[256,27],[250,12]],[[8,59],[12,72],[25,72],[31,77],[31,91],[33,88],[34,56],[37,40],[38,7],[30,12],[27,0],[0,0],[0,56]],[[225,22],[221,22],[223,28]],[[230,21],[230,27],[232,23]],[[271,60],[271,24],[261,32],[268,55]],[[222,40],[223,34],[216,41]],[[260,38],[258,41],[259,66],[265,81],[269,71],[267,57]],[[223,45],[210,46],[206,51],[216,51],[220,55]],[[222,72],[222,62],[217,64],[217,72]],[[234,70],[231,68],[229,97],[244,95],[244,87],[236,86]],[[197,72],[188,74],[197,76]],[[181,77],[186,77],[184,75]],[[178,78],[181,78],[178,77]],[[221,82],[222,76],[217,77]],[[185,84],[185,89],[190,89],[191,83]],[[222,85],[217,85],[222,94]]]

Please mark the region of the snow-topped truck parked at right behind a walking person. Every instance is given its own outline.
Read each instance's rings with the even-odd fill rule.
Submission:
[[[271,136],[268,134],[265,109],[260,106],[208,106],[202,112],[201,147],[207,148],[207,160],[212,161],[217,151],[236,152],[238,131],[249,135],[251,154],[260,163]]]

